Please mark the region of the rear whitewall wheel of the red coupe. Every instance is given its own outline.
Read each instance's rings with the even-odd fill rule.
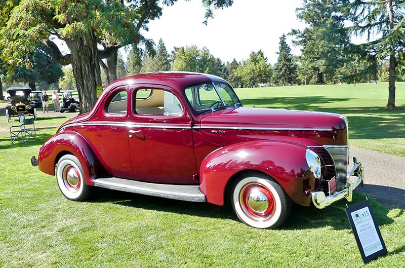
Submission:
[[[83,167],[73,155],[64,155],[56,166],[56,180],[65,198],[84,201],[90,195],[91,186],[85,183]]]

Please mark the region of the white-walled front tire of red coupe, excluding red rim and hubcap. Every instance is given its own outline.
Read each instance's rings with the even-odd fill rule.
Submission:
[[[256,220],[251,217],[249,217],[244,210],[241,208],[241,204],[239,202],[239,194],[240,190],[248,183],[251,182],[257,182],[268,188],[268,190],[271,192],[274,200],[274,205],[275,205],[275,210],[273,215],[267,219],[267,220]],[[231,202],[232,202],[232,207],[237,215],[237,217],[244,222],[245,224],[255,227],[255,228],[275,228],[279,226],[282,221],[284,221],[283,214],[285,213],[283,210],[286,210],[287,208],[283,205],[284,202],[281,201],[280,195],[284,195],[284,193],[279,193],[280,191],[280,186],[269,179],[265,178],[260,178],[256,176],[249,176],[242,178],[238,180],[232,190],[231,193]],[[282,188],[281,188],[282,191]],[[284,212],[284,213],[283,213]]]

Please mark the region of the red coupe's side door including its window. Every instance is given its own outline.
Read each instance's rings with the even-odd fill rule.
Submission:
[[[170,88],[137,86],[132,90],[129,149],[134,178],[196,184],[191,118]]]

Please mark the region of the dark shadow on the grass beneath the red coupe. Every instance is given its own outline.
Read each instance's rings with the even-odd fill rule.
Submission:
[[[96,193],[90,202],[113,203],[147,210],[239,221],[230,206],[216,206],[210,203],[178,201],[123,193],[103,188],[95,188],[95,190]],[[325,226],[331,226],[337,230],[351,229],[345,211],[346,203],[348,206],[352,206],[364,200],[366,200],[366,196],[356,192],[351,203],[340,201],[321,210],[313,206],[301,207],[293,205],[290,217],[284,225],[279,227],[279,229],[299,230],[322,228]],[[380,205],[371,198],[369,198],[369,200],[379,225],[390,224],[393,222],[393,219],[387,216],[390,208]]]

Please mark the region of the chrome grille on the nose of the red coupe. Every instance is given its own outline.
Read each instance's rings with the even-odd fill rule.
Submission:
[[[347,165],[348,165],[348,159],[349,159],[349,146],[343,145],[324,145],[324,146],[314,146],[314,147],[309,147],[311,149],[314,149],[314,151],[317,152],[317,154],[325,161],[326,168],[331,169],[335,168],[336,171],[336,190],[340,191],[343,190],[346,187],[346,176],[347,176]],[[332,159],[325,155],[326,152],[325,149],[329,152],[330,156]],[[323,153],[322,153],[323,151]],[[331,163],[331,160],[333,163]],[[333,166],[331,166],[333,165]],[[328,172],[331,174],[330,172]],[[327,178],[330,179],[330,178]]]

